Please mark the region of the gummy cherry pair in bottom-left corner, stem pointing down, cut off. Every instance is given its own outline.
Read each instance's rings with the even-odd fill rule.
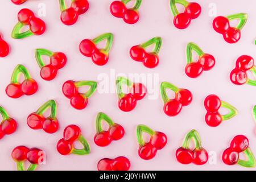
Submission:
[[[27,171],[34,171],[38,164],[42,164],[45,159],[45,152],[39,148],[27,148],[26,146],[15,147],[13,152],[11,152],[13,160],[17,163],[18,171],[25,171],[24,163],[26,160],[30,162],[30,166]]]

